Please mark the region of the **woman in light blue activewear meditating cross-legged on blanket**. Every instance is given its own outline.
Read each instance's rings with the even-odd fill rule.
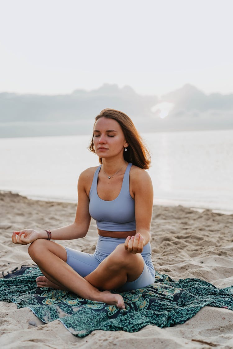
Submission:
[[[150,155],[131,119],[113,109],[95,118],[89,149],[101,165],[80,174],[74,223],[51,231],[13,232],[12,241],[31,243],[30,257],[44,275],[37,277],[38,287],[69,290],[124,309],[122,296],[109,290],[123,292],[154,282],[149,242],[153,188],[145,171]],[[50,240],[86,236],[91,217],[99,234],[93,255]]]

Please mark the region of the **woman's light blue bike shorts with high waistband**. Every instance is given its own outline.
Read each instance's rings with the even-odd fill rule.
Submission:
[[[66,263],[70,265],[75,272],[77,272],[82,277],[87,276],[92,273],[99,264],[108,255],[115,250],[116,246],[119,244],[124,244],[125,239],[116,239],[110,237],[99,236],[95,248],[94,254],[80,252],[73,250],[73,248],[65,247],[67,253]],[[118,289],[119,292],[131,291],[138,288],[146,287],[154,283],[155,271],[151,259],[151,244],[148,243],[143,247],[143,252],[141,255],[144,259],[144,269],[141,275],[134,281],[126,282],[121,288]]]

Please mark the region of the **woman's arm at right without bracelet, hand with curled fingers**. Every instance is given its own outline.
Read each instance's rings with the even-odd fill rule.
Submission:
[[[136,234],[125,240],[125,248],[132,253],[141,253],[150,241],[153,186],[149,174],[139,168],[134,169],[130,180],[135,201]]]

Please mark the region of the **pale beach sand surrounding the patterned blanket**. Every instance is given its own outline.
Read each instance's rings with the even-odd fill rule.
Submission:
[[[31,264],[28,246],[11,241],[13,230],[58,228],[72,223],[76,205],[34,201],[0,192],[0,257],[3,272]],[[198,277],[219,288],[233,284],[233,215],[182,206],[154,206],[151,225],[155,269],[179,280]],[[92,221],[85,238],[60,241],[92,253],[97,239]],[[44,324],[28,308],[0,302],[1,348],[233,348],[233,311],[204,307],[182,325],[146,326],[139,332],[94,331],[73,336],[59,322]]]

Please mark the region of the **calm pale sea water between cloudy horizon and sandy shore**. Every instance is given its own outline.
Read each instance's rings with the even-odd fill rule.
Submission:
[[[233,130],[145,133],[154,203],[233,211]],[[90,136],[0,139],[0,189],[77,201],[82,170],[99,164]]]

